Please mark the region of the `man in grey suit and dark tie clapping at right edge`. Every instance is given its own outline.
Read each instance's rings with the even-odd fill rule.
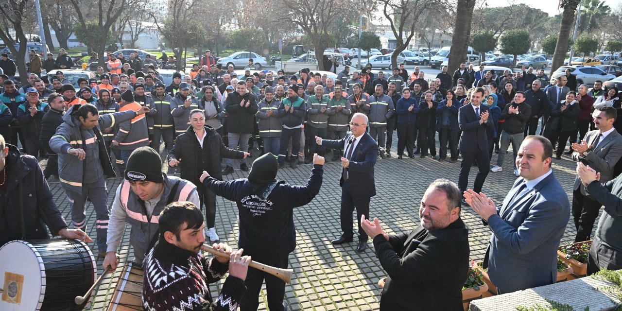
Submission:
[[[618,134],[613,123],[616,119],[616,108],[603,106],[593,113],[594,131],[585,134],[581,144],[572,144],[572,159],[600,173],[600,182],[606,183],[613,179],[613,167],[622,157],[622,135]],[[577,228],[575,242],[587,241],[592,234],[594,221],[598,216],[601,203],[585,192],[578,175],[572,193],[572,216]]]

